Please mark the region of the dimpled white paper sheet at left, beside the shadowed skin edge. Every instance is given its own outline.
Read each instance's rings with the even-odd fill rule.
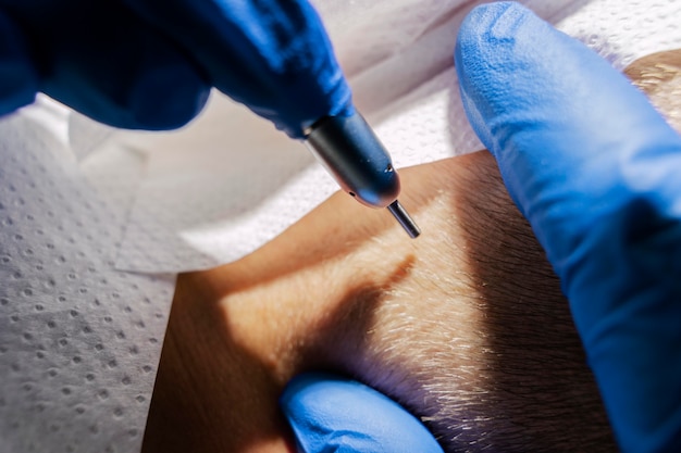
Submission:
[[[0,452],[138,451],[173,278],[113,268],[123,218],[53,134],[0,137]]]

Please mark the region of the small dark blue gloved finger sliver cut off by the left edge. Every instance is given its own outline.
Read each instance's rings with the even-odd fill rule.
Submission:
[[[0,11],[0,116],[32,103],[38,73],[20,29]]]

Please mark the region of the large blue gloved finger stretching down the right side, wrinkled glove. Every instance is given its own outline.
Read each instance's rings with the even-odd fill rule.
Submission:
[[[455,51],[471,124],[570,300],[628,451],[681,451],[681,139],[586,47],[517,3]]]

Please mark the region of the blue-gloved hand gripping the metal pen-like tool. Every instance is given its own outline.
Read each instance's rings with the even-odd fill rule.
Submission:
[[[0,115],[36,91],[109,125],[176,128],[216,87],[294,138],[349,114],[307,1],[0,0]]]

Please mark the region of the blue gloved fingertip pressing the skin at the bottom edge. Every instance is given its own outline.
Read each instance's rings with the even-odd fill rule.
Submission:
[[[288,383],[280,403],[301,453],[442,453],[416,417],[355,380],[300,375]]]

